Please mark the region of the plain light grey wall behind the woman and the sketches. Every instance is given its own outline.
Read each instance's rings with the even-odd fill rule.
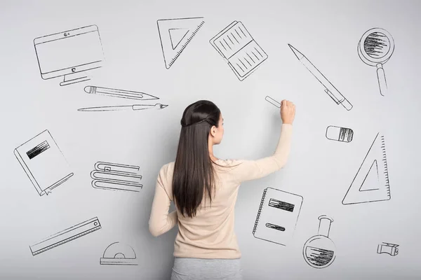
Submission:
[[[245,279],[417,279],[421,234],[419,1],[1,1],[1,279],[169,279],[177,228],[154,238],[148,220],[159,168],[175,160],[180,118],[198,99],[217,104],[225,137],[220,158],[271,155],[279,137],[279,109],[297,106],[288,165],[264,179],[243,183],[236,203],[236,234]],[[163,62],[156,20],[204,17],[205,24],[170,69]],[[209,40],[234,20],[243,22],[269,55],[239,81]],[[36,37],[97,25],[105,66],[93,79],[60,87],[43,80]],[[382,97],[375,67],[361,62],[356,45],[373,27],[395,43],[384,65],[389,94]],[[346,111],[298,62],[303,52],[349,99]],[[86,113],[88,106],[131,105],[130,99],[88,95],[86,85],[147,92],[168,104],[161,111]],[[350,143],[329,141],[326,127],[351,127]],[[14,148],[49,130],[74,172],[40,197],[13,155]],[[385,135],[392,199],[342,205],[375,134]],[[140,193],[97,190],[90,172],[98,161],[138,165]],[[256,239],[253,225],[262,191],[271,186],[302,195],[304,202],[288,246]],[[330,239],[336,259],[325,269],[305,262],[302,247],[334,219]],[[97,216],[102,228],[33,256],[29,245]],[[114,241],[133,247],[138,266],[100,265]],[[377,254],[377,244],[399,244],[399,254]]]

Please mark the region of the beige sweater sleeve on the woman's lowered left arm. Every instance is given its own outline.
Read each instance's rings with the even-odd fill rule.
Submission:
[[[161,169],[156,180],[154,201],[152,202],[152,211],[149,218],[149,232],[154,237],[168,232],[178,223],[177,211],[172,211],[168,214],[171,199],[163,186],[163,175],[163,169]]]

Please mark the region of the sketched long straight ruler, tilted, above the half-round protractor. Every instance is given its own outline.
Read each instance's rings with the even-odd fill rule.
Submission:
[[[55,248],[69,241],[88,235],[91,232],[100,230],[101,224],[97,217],[91,218],[88,221],[84,221],[70,228],[57,232],[46,239],[39,241],[38,243],[29,246],[32,255],[38,255],[45,251]]]

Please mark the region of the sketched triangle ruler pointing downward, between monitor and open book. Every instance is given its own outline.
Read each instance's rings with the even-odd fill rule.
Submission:
[[[157,20],[166,69],[170,69],[181,52],[205,23],[203,18]]]

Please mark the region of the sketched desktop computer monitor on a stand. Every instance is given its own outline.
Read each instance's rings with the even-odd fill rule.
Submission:
[[[60,85],[90,80],[86,71],[104,62],[100,32],[96,25],[34,38],[41,78],[63,77]]]

